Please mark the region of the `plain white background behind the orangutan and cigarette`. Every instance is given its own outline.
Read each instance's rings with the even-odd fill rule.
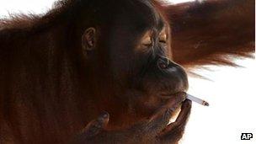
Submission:
[[[169,0],[172,3],[187,0]],[[0,0],[0,17],[8,13],[43,13],[53,0]],[[189,93],[206,99],[210,107],[193,104],[183,144],[256,143],[255,60],[236,60],[243,68],[211,67],[197,70],[211,81],[189,77]],[[252,132],[251,141],[241,141],[242,132]]]

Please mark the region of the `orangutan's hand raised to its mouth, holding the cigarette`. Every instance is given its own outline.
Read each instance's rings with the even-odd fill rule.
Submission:
[[[97,120],[90,122],[72,143],[176,143],[183,135],[191,108],[191,102],[184,99],[184,96],[180,97],[180,95],[173,97],[167,104],[157,109],[148,120],[143,120],[122,131],[105,129],[109,120],[109,115],[105,113]],[[183,101],[179,117],[168,125],[173,110]]]

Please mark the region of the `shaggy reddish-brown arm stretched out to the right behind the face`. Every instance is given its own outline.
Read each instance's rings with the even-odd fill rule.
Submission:
[[[254,49],[254,1],[207,0],[165,7],[172,26],[173,59],[184,67],[235,66],[227,55]]]

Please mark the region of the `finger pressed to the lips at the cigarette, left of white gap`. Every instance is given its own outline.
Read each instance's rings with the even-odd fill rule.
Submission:
[[[163,128],[168,125],[174,110],[184,101],[185,95],[185,93],[175,94],[168,100],[167,104],[164,104],[160,109],[157,109],[157,112],[152,115],[151,119],[148,121],[148,129],[152,132],[162,131]]]

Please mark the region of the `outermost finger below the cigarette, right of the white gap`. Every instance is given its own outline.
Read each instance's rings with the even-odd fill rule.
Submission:
[[[191,111],[191,101],[186,99],[182,104],[181,111],[177,119],[169,124],[158,136],[171,138],[173,136],[181,137],[184,132],[185,125],[189,119]]]

